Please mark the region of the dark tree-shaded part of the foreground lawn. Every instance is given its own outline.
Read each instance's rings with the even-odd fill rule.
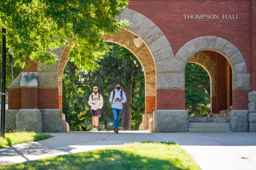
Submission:
[[[24,163],[26,169],[177,169],[167,160],[134,155],[119,150],[99,150],[57,156]],[[47,165],[47,166],[46,166]],[[11,168],[12,169],[12,168]]]

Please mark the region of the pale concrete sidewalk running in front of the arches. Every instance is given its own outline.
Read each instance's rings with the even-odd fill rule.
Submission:
[[[49,133],[54,137],[0,149],[0,165],[113,147],[133,141],[175,141],[203,170],[255,170],[256,133]]]

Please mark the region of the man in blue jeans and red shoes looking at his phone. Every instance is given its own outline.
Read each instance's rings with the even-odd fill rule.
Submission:
[[[115,83],[115,90],[113,90],[109,97],[109,102],[112,103],[112,112],[114,116],[114,132],[118,132],[118,121],[123,109],[123,103],[126,102],[125,92],[120,90],[120,83]]]

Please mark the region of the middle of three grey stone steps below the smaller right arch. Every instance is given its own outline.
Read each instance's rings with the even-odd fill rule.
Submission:
[[[189,128],[230,128],[230,125],[227,122],[190,122]]]

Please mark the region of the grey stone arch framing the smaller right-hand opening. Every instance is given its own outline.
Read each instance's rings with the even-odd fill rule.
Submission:
[[[223,38],[215,36],[195,38],[183,45],[175,55],[175,58],[187,63],[192,55],[205,50],[218,52],[228,60],[233,71],[233,90],[251,89],[251,74],[247,74],[243,55],[234,44]],[[183,66],[181,69],[185,71],[186,64],[180,66]]]

